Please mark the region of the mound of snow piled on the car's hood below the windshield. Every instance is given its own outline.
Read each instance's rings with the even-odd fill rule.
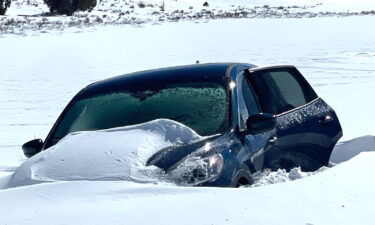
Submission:
[[[145,166],[154,153],[200,139],[194,130],[167,119],[76,132],[24,162],[13,174],[8,187],[73,180],[155,182],[161,170]]]

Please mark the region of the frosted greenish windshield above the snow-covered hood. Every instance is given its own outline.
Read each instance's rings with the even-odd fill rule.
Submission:
[[[192,128],[200,135],[226,129],[227,95],[216,83],[182,83],[160,90],[114,92],[80,99],[64,113],[52,138],[68,133],[99,130],[166,118]]]

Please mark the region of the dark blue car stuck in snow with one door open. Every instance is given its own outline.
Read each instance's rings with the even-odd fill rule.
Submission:
[[[238,187],[266,168],[313,171],[328,164],[342,136],[334,110],[294,66],[195,64],[93,83],[63,110],[27,157],[79,131],[177,121],[203,138],[160,149],[147,161],[189,185]],[[100,166],[100,165],[98,165]]]

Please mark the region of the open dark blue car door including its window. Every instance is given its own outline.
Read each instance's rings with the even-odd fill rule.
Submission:
[[[247,70],[261,112],[277,118],[275,143],[264,156],[271,169],[316,170],[328,164],[342,136],[333,109],[317,96],[294,66]]]

